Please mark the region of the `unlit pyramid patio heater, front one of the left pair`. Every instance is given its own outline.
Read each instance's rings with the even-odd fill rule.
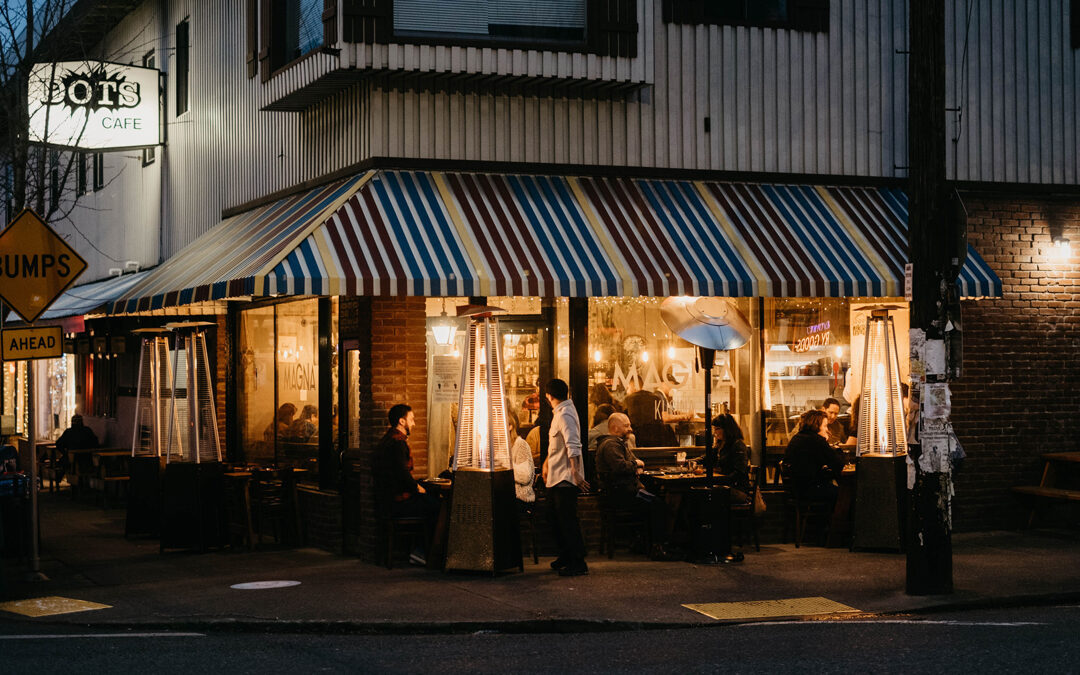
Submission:
[[[166,324],[175,335],[172,402],[164,445],[161,550],[228,543],[225,470],[204,321]]]

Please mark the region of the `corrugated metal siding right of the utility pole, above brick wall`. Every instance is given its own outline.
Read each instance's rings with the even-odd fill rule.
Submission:
[[[970,13],[969,13],[970,11]],[[953,0],[948,170],[961,180],[1078,183],[1080,50],[1069,0]]]

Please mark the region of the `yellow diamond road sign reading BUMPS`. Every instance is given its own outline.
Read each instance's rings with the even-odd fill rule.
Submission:
[[[0,233],[0,296],[27,323],[49,309],[86,261],[26,210]]]

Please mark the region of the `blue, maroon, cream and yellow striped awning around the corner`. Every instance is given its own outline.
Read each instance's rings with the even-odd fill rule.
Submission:
[[[272,295],[897,297],[885,188],[378,171],[234,216],[117,302]],[[969,247],[963,297],[1001,295]]]

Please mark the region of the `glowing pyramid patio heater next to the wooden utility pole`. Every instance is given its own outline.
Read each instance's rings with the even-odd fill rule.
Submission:
[[[907,433],[900,391],[896,332],[890,310],[868,308],[859,403],[855,523],[852,549],[903,546]]]

